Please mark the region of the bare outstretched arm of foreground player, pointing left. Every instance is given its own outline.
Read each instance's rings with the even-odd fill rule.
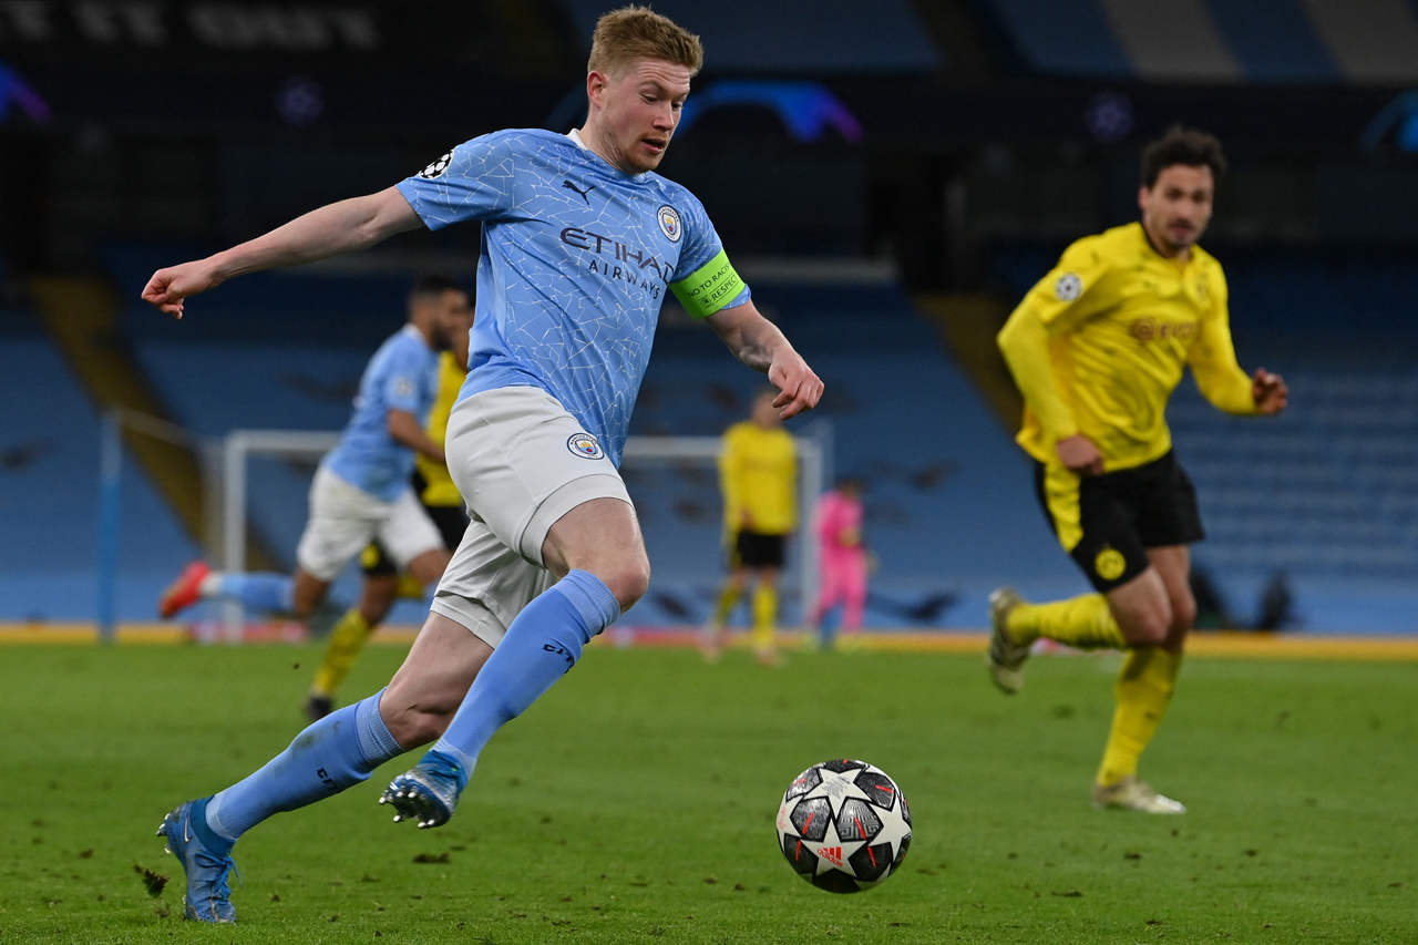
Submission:
[[[143,301],[182,318],[187,297],[235,275],[363,250],[420,224],[418,214],[394,187],[339,200],[204,260],[157,270],[143,287]]]

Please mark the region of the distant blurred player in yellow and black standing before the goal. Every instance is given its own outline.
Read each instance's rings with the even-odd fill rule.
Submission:
[[[773,407],[774,392],[753,399],[749,420],[729,427],[719,454],[723,491],[725,539],[729,546],[729,580],[709,621],[705,656],[723,648],[725,624],[752,573],[753,648],[759,661],[780,661],[774,641],[778,619],[778,572],[788,535],[797,528],[797,448]]]

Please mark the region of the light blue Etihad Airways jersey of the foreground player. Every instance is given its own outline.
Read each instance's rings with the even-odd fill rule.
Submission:
[[[723,254],[703,204],[655,172],[615,169],[576,132],[540,129],[474,138],[397,186],[430,230],[482,221],[459,400],[540,387],[618,465],[666,289]],[[749,297],[733,277],[695,314]]]

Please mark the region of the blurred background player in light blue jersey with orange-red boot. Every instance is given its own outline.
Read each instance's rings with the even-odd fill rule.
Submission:
[[[330,583],[377,538],[420,585],[442,576],[448,549],[408,484],[414,454],[444,463],[424,431],[438,353],[467,333],[471,308],[457,282],[428,275],[408,294],[408,322],[380,345],[360,377],[354,411],[315,472],[311,509],[295,551],[295,575],[217,572],[193,562],[163,592],[157,613],[174,617],[199,600],[240,600],[251,610],[308,620]]]

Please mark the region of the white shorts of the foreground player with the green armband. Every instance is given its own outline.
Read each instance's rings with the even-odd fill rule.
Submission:
[[[432,610],[498,646],[554,583],[542,565],[552,525],[596,498],[631,504],[601,444],[540,387],[472,394],[448,417],[448,472],[468,504],[468,531]]]

